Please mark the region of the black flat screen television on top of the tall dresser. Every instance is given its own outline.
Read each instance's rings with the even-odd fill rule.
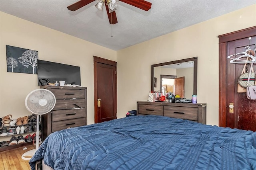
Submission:
[[[67,84],[76,84],[81,86],[80,67],[68,64],[54,63],[50,61],[37,61],[38,86],[41,78],[48,78],[49,83],[64,80]]]

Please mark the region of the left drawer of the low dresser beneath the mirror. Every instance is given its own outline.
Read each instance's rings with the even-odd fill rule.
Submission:
[[[163,106],[140,104],[139,113],[146,115],[163,115]]]

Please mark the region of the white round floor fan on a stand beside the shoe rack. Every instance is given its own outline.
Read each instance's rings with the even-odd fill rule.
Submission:
[[[36,149],[29,150],[22,154],[21,158],[30,160],[39,147],[39,115],[51,111],[56,104],[56,98],[50,90],[36,89],[28,94],[25,99],[25,106],[31,113],[36,114]],[[25,157],[27,156],[27,157]],[[28,158],[29,157],[29,158]]]

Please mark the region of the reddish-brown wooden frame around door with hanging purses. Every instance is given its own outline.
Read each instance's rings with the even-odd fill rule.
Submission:
[[[219,35],[219,126],[227,127],[227,44],[256,36],[256,26]]]

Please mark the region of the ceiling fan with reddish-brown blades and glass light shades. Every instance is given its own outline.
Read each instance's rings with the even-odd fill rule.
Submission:
[[[86,6],[87,4],[90,4],[95,0],[80,0],[70,6],[68,6],[68,10],[70,11],[76,11],[79,8],[82,8],[83,6]],[[135,6],[137,8],[140,8],[142,10],[148,11],[151,8],[151,3],[147,2],[145,0],[96,0],[97,4],[95,7],[102,11],[103,9],[103,4],[105,3],[107,14],[108,14],[108,20],[110,24],[116,24],[117,23],[117,18],[116,18],[116,6],[118,1],[122,1],[126,4]]]

